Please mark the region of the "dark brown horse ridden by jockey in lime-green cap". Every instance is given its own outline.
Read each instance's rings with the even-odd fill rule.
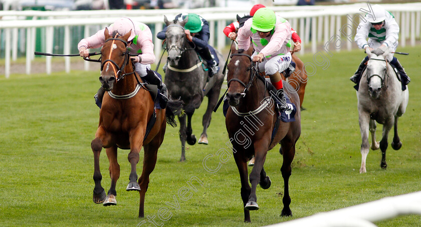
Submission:
[[[253,46],[248,50],[237,51],[231,46],[231,61],[228,64],[228,93],[227,100],[230,104],[226,116],[226,127],[230,141],[233,145],[234,158],[240,172],[241,197],[244,205],[244,221],[250,222],[250,210],[257,210],[256,187],[259,183],[263,189],[271,185],[271,180],[263,168],[266,154],[278,143],[281,144],[280,152],[283,154],[281,167],[284,178],[284,197],[281,215],[292,215],[290,209],[291,198],[289,195],[289,177],[291,175],[291,163],[295,156],[295,144],[301,134],[300,99],[297,93],[290,87],[284,92],[297,107],[295,121],[279,121],[279,127],[272,137],[274,126],[277,122],[275,105],[269,95],[269,91],[260,76],[257,67],[252,63],[251,55]],[[290,86],[284,81],[284,87]],[[270,102],[263,108],[265,102]],[[235,111],[234,111],[235,109]],[[257,111],[259,110],[260,111]],[[237,113],[236,113],[237,112]],[[240,114],[238,114],[240,113]],[[253,123],[250,123],[253,121]],[[247,161],[255,156],[255,164],[248,178]]]

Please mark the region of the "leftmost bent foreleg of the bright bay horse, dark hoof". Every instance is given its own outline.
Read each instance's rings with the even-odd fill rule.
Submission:
[[[95,134],[95,139],[91,142],[92,152],[94,153],[94,181],[95,187],[93,192],[93,201],[95,203],[102,203],[107,197],[104,188],[101,186],[101,171],[99,168],[99,155],[103,147],[103,138],[105,137],[105,131],[100,126]]]

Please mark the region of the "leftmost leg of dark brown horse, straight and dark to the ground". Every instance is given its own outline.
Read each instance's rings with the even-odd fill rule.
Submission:
[[[250,187],[249,178],[248,178],[247,160],[245,160],[245,158],[242,157],[239,154],[239,152],[234,154],[234,159],[236,161],[238,171],[240,172],[241,198],[243,200],[243,207],[246,207],[246,204],[249,201],[249,196],[251,192],[251,187]],[[251,222],[250,211],[245,208],[244,208],[244,222]]]

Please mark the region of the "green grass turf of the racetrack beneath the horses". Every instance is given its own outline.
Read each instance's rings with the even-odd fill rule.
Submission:
[[[380,152],[370,151],[367,173],[359,174],[360,133],[357,99],[352,82],[364,57],[362,51],[333,52],[330,66],[317,68],[309,77],[302,112],[302,134],[290,177],[293,217],[281,217],[283,180],[282,156],[278,146],[268,152],[265,169],[272,179],[267,190],[257,189],[260,209],[251,211],[251,224],[243,223],[240,179],[230,157],[215,173],[203,168],[218,166],[216,152],[226,148],[228,135],[222,108],[213,114],[208,129],[209,145],[187,146],[184,163],[178,162],[178,128],[167,127],[158,152],[155,170],[146,193],[145,216],[164,226],[261,226],[318,212],[343,208],[420,190],[419,148],[421,99],[419,62],[421,47],[399,48],[409,56],[398,56],[412,82],[409,104],[399,120],[402,148],[386,153],[387,170],[380,168]],[[313,62],[313,55],[300,56]],[[225,59],[225,58],[224,58]],[[153,67],[154,68],[154,67]],[[90,142],[98,124],[99,109],[93,95],[100,84],[98,72],[70,74],[12,75],[0,78],[0,225],[1,226],[136,226],[139,195],[125,190],[130,166],[127,150],[119,150],[121,177],[117,182],[117,205],[104,207],[92,201],[93,155]],[[226,86],[225,86],[226,87]],[[206,101],[193,115],[193,133],[200,135]],[[380,138],[381,125],[377,138]],[[392,134],[392,133],[390,133]],[[389,136],[389,142],[391,136]],[[142,157],[142,156],[141,156]],[[138,165],[140,175],[141,163]],[[101,153],[102,185],[110,178],[105,150]],[[251,170],[251,168],[249,168]],[[202,185],[187,184],[197,177]],[[182,200],[178,190],[190,188]],[[179,207],[173,208],[174,197]],[[160,220],[159,209],[167,207],[168,220]],[[378,226],[418,226],[421,217],[408,215],[376,222]],[[153,226],[143,224],[141,226]]]

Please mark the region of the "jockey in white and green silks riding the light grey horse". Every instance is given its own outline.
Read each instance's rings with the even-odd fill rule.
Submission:
[[[372,13],[367,14],[364,17],[365,22],[361,21],[358,25],[357,33],[354,38],[355,42],[359,48],[364,50],[367,48],[369,48],[370,51],[377,48],[381,48],[383,50],[390,48],[391,52],[395,52],[398,45],[399,26],[393,15],[379,5],[374,5],[371,9]],[[402,83],[407,85],[410,82],[410,79],[406,75],[405,70],[402,65],[400,65],[399,61],[393,57],[393,53],[390,53],[386,59],[390,62],[390,64],[396,67],[402,78]],[[349,78],[352,82],[359,82],[362,70],[364,69],[364,65],[367,60],[368,56],[362,60],[357,71],[351,78]]]

